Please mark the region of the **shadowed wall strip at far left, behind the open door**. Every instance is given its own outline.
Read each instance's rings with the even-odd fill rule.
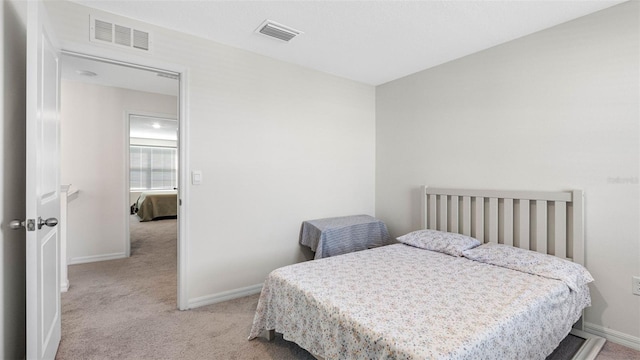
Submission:
[[[0,4],[0,358],[25,356],[26,2]]]

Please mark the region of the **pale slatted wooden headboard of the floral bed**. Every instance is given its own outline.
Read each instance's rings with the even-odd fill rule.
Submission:
[[[583,193],[422,187],[422,228],[469,235],[584,265]]]

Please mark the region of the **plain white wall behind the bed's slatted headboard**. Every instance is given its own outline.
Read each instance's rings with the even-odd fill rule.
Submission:
[[[639,3],[379,86],[376,215],[417,229],[418,187],[586,194],[587,328],[640,347]]]

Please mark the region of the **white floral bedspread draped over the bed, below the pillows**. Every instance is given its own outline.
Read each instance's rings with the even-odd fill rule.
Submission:
[[[325,359],[544,359],[589,302],[586,285],[396,244],[274,270],[249,339],[275,329]]]

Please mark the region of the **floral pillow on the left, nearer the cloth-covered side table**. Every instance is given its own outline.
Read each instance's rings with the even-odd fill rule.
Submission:
[[[462,251],[480,245],[480,241],[472,237],[438,230],[418,230],[400,236],[397,240],[420,249],[452,256],[462,256]]]

